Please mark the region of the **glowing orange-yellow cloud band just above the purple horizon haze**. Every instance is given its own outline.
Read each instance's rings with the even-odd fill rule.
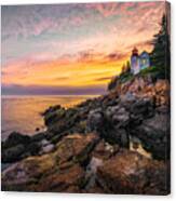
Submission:
[[[121,71],[123,59],[114,59],[111,55],[92,55],[92,59],[83,55],[83,58],[68,62],[63,59],[48,63],[36,63],[27,66],[25,62],[6,66],[3,68],[3,84],[19,85],[50,85],[50,86],[89,86],[107,84],[108,79]]]

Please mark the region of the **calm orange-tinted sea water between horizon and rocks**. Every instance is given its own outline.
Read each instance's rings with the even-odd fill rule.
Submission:
[[[32,135],[36,128],[43,131],[41,112],[50,106],[75,106],[93,96],[2,96],[2,140],[13,131]]]

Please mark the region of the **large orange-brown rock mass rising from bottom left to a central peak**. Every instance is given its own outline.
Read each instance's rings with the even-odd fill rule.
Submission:
[[[81,191],[84,168],[98,140],[93,133],[65,136],[52,152],[28,157],[4,170],[2,190]]]

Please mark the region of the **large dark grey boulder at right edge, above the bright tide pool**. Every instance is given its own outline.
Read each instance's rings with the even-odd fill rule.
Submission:
[[[155,159],[170,158],[170,119],[167,113],[155,113],[143,124],[132,128],[131,135],[137,136],[146,150]]]

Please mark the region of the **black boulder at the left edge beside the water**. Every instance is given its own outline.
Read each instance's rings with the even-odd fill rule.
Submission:
[[[2,162],[12,163],[29,156],[38,156],[52,151],[54,145],[46,140],[46,134],[38,133],[33,136],[27,136],[13,132],[2,143]],[[48,145],[44,145],[43,142],[48,142]]]

